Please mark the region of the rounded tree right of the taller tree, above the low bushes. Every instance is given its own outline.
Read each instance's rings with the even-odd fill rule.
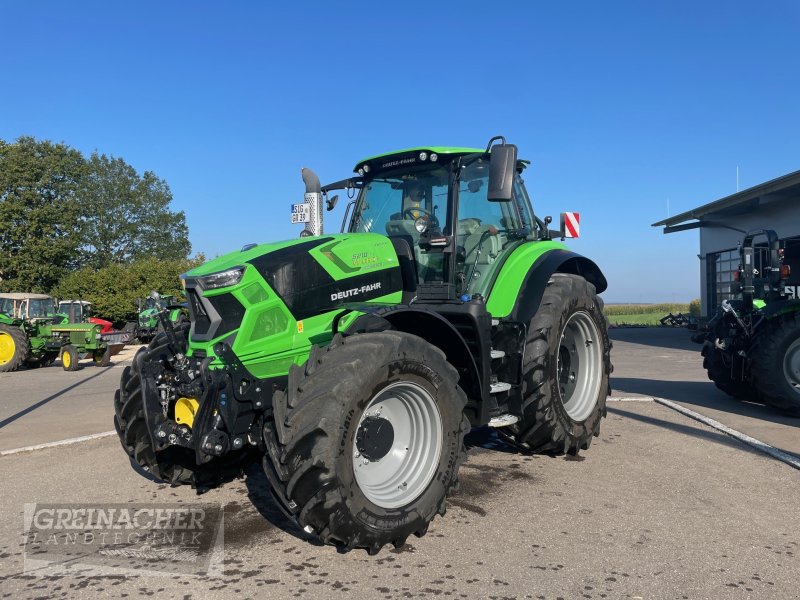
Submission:
[[[150,171],[139,176],[121,158],[96,152],[88,166],[80,194],[85,265],[189,255],[186,215],[169,209],[172,192],[163,179]]]

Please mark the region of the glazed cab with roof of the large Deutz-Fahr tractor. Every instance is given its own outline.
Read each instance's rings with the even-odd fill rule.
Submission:
[[[521,176],[527,162],[493,141],[486,150],[415,148],[356,165],[347,231],[388,236],[410,265],[405,287],[427,300],[486,296],[504,258],[544,231]]]

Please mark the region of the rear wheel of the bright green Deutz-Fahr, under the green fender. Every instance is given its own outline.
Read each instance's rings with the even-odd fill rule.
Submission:
[[[555,273],[528,326],[522,419],[501,435],[533,452],[587,450],[600,435],[610,374],[611,343],[594,286]]]

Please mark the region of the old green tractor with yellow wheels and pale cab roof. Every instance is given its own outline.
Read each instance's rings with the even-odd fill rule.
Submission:
[[[100,325],[65,323],[53,299],[44,294],[0,294],[0,373],[23,364],[48,366],[59,356],[65,371],[76,371],[82,356],[108,366],[111,351]]]

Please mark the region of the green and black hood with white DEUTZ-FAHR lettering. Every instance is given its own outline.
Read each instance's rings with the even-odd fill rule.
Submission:
[[[398,302],[403,289],[391,240],[372,233],[245,247],[184,278],[193,348],[235,339],[239,356],[265,335],[311,334],[317,317],[320,331],[329,330],[333,311],[346,304]]]

